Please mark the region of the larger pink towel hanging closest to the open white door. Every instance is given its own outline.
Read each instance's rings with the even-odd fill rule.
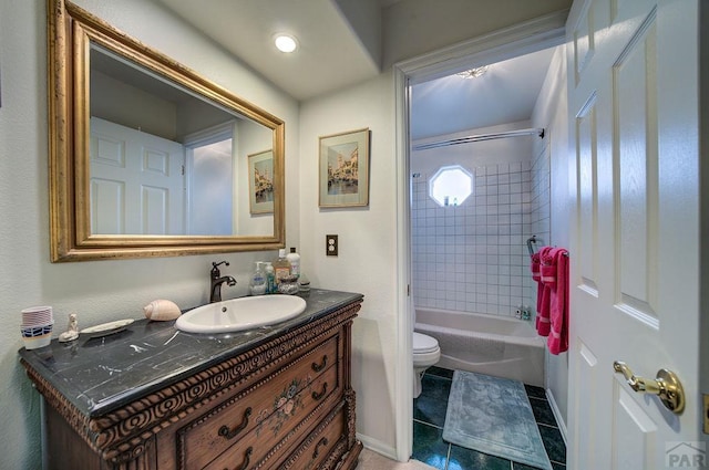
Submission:
[[[546,257],[549,262],[543,263],[542,281],[547,285],[544,268],[548,267],[551,332],[547,345],[549,353],[559,354],[568,349],[568,251],[555,248]]]

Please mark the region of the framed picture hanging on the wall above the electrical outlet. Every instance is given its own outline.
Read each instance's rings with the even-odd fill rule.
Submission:
[[[369,206],[369,128],[320,137],[321,208]]]

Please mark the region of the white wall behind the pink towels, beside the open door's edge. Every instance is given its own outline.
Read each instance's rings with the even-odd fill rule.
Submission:
[[[569,153],[566,95],[566,54],[558,46],[537,98],[532,116],[534,127],[544,127],[549,138],[551,156],[551,240],[557,247],[569,246],[569,213],[572,195],[569,170],[574,165]],[[574,253],[571,253],[574,262]],[[561,418],[565,421],[568,410],[568,354],[558,356],[546,353],[546,388],[556,403]],[[559,424],[562,427],[565,425]]]

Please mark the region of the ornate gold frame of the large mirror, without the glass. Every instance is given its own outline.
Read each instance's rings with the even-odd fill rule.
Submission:
[[[48,0],[49,194],[52,262],[271,250],[285,246],[285,124],[64,0]],[[91,232],[91,44],[273,132],[273,234],[153,236]]]

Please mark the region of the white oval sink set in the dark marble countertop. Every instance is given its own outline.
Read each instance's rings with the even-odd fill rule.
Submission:
[[[193,309],[175,326],[189,333],[240,332],[285,322],[305,310],[306,301],[295,295],[239,297]]]

